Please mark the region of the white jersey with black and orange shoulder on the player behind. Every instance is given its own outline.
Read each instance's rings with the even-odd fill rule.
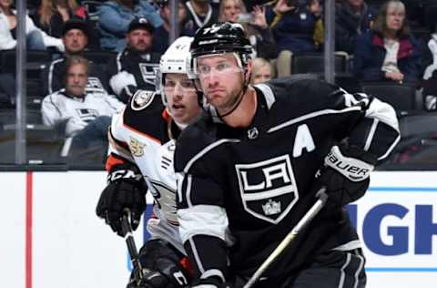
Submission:
[[[176,214],[177,184],[173,167],[176,143],[169,135],[171,120],[159,96],[138,92],[123,113],[113,118],[109,149],[113,156],[135,162],[146,180],[155,200],[154,216],[147,221],[152,239],[170,242],[185,254]]]

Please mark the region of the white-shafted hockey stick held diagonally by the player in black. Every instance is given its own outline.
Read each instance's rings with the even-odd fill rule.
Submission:
[[[262,273],[264,273],[267,268],[271,265],[272,262],[274,262],[276,259],[278,259],[281,252],[284,252],[285,249],[290,245],[290,242],[293,241],[293,239],[296,238],[297,235],[299,235],[300,231],[307,226],[308,223],[319,213],[319,211],[323,208],[325,205],[328,195],[325,193],[326,188],[322,187],[317,192],[316,196],[319,198],[314,205],[310,208],[309,211],[305,215],[303,215],[302,219],[294,226],[294,228],[290,231],[290,233],[285,236],[285,238],[282,240],[282,242],[279,243],[278,247],[271,252],[269,257],[259,266],[258,270],[250,277],[248,283],[246,283],[243,288],[250,288],[255,284]]]

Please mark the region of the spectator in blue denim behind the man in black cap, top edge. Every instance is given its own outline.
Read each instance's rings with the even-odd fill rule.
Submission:
[[[146,18],[154,27],[163,25],[157,10],[147,0],[111,0],[101,5],[98,26],[102,48],[118,52],[123,50],[127,28],[136,17]]]

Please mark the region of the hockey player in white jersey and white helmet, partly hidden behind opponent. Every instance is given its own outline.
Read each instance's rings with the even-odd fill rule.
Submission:
[[[136,229],[146,209],[147,188],[155,199],[154,215],[147,222],[151,238],[139,252],[147,269],[141,287],[186,287],[189,281],[188,258],[178,235],[173,153],[180,131],[202,112],[189,72],[191,40],[179,37],[168,47],[160,59],[158,92],[138,90],[108,133],[107,188],[97,215],[122,235],[120,219],[126,209]],[[127,287],[137,284],[131,281]]]

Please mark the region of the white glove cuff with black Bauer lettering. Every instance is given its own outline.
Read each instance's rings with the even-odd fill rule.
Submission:
[[[348,157],[341,153],[339,146],[333,146],[332,149],[330,149],[330,153],[325,157],[325,166],[337,170],[344,177],[354,182],[368,179],[371,171],[374,169],[373,161],[368,163],[367,161],[361,160],[362,154],[366,152],[362,149],[357,149],[358,148],[348,149],[348,152],[351,152],[348,153],[348,156],[351,157]],[[360,158],[352,156],[358,156],[357,152],[361,153]]]

